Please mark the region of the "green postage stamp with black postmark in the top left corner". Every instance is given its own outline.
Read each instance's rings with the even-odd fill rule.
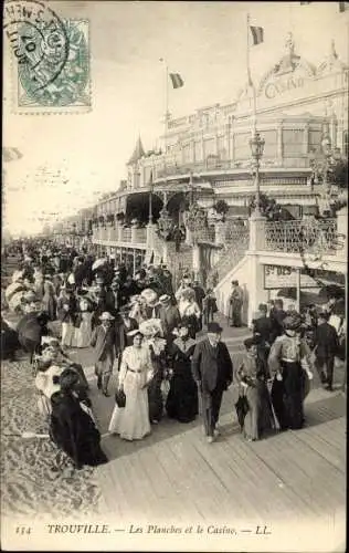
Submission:
[[[89,22],[60,19],[46,3],[4,6],[17,113],[88,112]]]

